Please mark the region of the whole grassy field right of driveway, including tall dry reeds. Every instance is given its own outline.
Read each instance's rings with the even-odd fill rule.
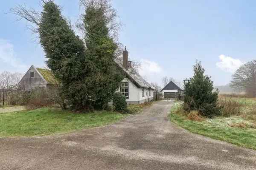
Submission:
[[[193,133],[256,150],[256,99],[220,96],[219,104],[222,115],[208,119],[191,116],[183,111],[182,102],[177,102],[169,118]]]

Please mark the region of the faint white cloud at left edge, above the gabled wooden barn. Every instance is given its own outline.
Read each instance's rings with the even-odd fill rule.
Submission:
[[[21,62],[15,57],[13,45],[0,39],[0,66],[14,67],[16,70],[24,70],[28,66],[21,64]]]

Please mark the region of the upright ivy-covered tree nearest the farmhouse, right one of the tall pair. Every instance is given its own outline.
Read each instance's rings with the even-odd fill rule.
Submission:
[[[109,34],[104,3],[108,2],[90,3],[83,20],[87,59],[95,65],[90,82],[94,87],[91,97],[95,100],[96,109],[108,104],[123,79],[114,62],[117,44]]]

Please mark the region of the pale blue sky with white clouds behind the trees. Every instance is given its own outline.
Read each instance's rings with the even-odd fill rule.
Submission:
[[[55,0],[73,24],[79,0]],[[44,67],[44,51],[25,21],[15,21],[9,8],[26,3],[41,10],[40,0],[8,0],[0,6],[0,72],[25,73]],[[254,0],[113,0],[124,24],[119,40],[129,58],[141,62],[140,74],[161,84],[164,76],[179,81],[192,76],[200,60],[215,85],[230,82],[244,62],[256,57]]]

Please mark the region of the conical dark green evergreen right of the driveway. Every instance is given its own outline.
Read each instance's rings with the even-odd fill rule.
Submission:
[[[194,76],[185,85],[184,106],[186,110],[197,110],[201,115],[212,117],[220,113],[217,106],[218,91],[214,89],[213,81],[207,75],[204,75],[205,69],[201,62],[196,61]]]

